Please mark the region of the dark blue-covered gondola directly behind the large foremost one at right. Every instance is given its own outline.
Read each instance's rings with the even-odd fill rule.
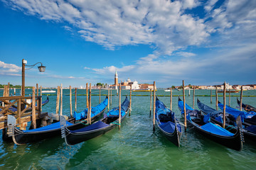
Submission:
[[[215,109],[210,108],[209,106],[201,103],[199,99],[197,103],[198,108],[202,111],[202,113],[206,115],[210,114],[210,120],[223,127],[223,111],[216,111]],[[230,115],[229,113],[225,114],[225,129],[233,133],[235,133],[238,130],[238,127],[235,123],[235,117],[233,115]],[[249,123],[242,123],[242,133],[245,136],[245,141],[247,139],[250,139],[256,142],[255,125],[251,125]]]

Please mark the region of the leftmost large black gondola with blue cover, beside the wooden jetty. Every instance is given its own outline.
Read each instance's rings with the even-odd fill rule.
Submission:
[[[92,107],[92,121],[98,120],[102,117],[105,109],[107,108],[108,98],[99,105]],[[85,119],[87,116],[85,117]],[[70,130],[76,130],[86,126],[87,120],[75,120],[75,118],[70,118],[66,122],[66,125]],[[32,130],[20,130],[16,128],[16,118],[12,115],[8,115],[7,120],[8,125],[8,135],[12,137],[16,145],[23,145],[30,142],[37,142],[44,140],[46,138],[55,137],[60,135],[60,122],[52,123],[41,128],[36,128]]]

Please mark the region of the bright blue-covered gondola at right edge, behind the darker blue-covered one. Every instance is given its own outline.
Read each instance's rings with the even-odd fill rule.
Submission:
[[[218,101],[218,107],[223,110],[223,103],[220,103]],[[235,118],[240,115],[242,122],[245,123],[250,123],[251,125],[256,125],[256,113],[251,111],[251,112],[245,112],[245,111],[239,111],[238,109],[231,108],[230,106],[225,106],[225,111],[229,113],[230,115],[235,116]]]

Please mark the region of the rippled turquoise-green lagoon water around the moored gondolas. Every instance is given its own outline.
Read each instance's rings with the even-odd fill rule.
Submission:
[[[26,94],[29,93],[31,90],[26,90]],[[156,92],[157,95],[169,93],[164,90]],[[64,89],[63,94],[69,94],[69,90]],[[85,94],[85,90],[78,90],[78,94]],[[98,91],[92,90],[92,94],[98,94]],[[107,94],[107,91],[102,91],[102,94]],[[129,91],[122,91],[122,94],[129,94]],[[173,95],[181,94],[182,91],[173,92]],[[188,97],[186,91],[186,103],[190,106],[193,103],[192,94],[193,91]],[[255,96],[256,91],[244,91],[243,94]],[[210,95],[210,91],[196,90],[196,95]],[[85,108],[85,97],[78,96],[78,111]],[[122,101],[124,97],[122,96]],[[43,111],[53,113],[56,96],[49,98],[50,102],[43,107]],[[104,98],[105,96],[101,96],[101,101]],[[198,98],[215,108],[215,97],[212,104],[210,97]],[[46,96],[43,96],[43,101],[45,99]],[[169,97],[159,99],[169,107]],[[228,97],[226,100],[228,103]],[[219,101],[223,102],[223,97]],[[244,97],[243,102],[256,106],[255,97]],[[98,103],[99,96],[92,96],[92,106]],[[179,120],[183,120],[177,103],[178,97],[173,97],[173,111]],[[112,96],[111,108],[116,106],[118,97]],[[231,106],[238,106],[236,97],[231,97]],[[63,114],[70,114],[69,96],[63,96]],[[121,130],[116,128],[78,145],[68,146],[60,137],[23,146],[0,139],[0,169],[255,169],[254,142],[246,140],[242,151],[238,152],[218,145],[188,128],[187,132],[183,132],[181,147],[178,148],[162,137],[158,130],[152,131],[152,119],[152,116],[149,117],[149,96],[132,96],[132,113],[122,123]]]

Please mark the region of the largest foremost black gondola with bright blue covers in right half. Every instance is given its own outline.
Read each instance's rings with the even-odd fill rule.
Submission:
[[[178,108],[181,114],[184,116],[183,101],[178,98]],[[220,145],[229,147],[240,151],[242,149],[242,123],[240,117],[237,119],[238,131],[233,134],[219,125],[215,125],[210,122],[210,115],[202,115],[202,113],[196,109],[191,108],[186,104],[186,118],[188,124],[201,133],[201,135],[208,137],[214,142],[218,142]]]

